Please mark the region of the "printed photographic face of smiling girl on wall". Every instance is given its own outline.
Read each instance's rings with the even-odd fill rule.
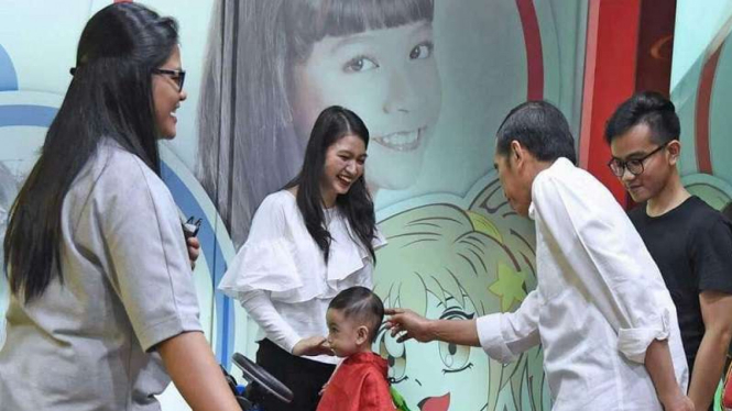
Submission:
[[[325,37],[294,68],[293,92],[298,135],[309,135],[325,108],[346,107],[371,134],[369,187],[407,188],[419,175],[440,110],[431,23]]]

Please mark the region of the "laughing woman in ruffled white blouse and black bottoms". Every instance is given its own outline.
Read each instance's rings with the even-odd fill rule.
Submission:
[[[287,409],[315,410],[335,368],[325,338],[330,300],[349,287],[373,286],[374,249],[385,242],[363,177],[368,145],[369,130],[356,113],[325,109],[303,168],[262,201],[219,285],[260,325],[256,362],[295,393]]]

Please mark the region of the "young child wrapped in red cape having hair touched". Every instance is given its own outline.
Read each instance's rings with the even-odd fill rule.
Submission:
[[[381,299],[365,287],[348,288],[326,313],[328,344],[345,358],[318,404],[318,411],[394,411],[386,360],[371,351],[384,319]]]

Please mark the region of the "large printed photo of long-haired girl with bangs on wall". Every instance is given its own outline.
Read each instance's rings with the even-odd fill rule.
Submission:
[[[368,124],[373,196],[415,181],[441,103],[433,11],[433,0],[217,1],[197,176],[234,245],[262,199],[299,169],[326,107]]]

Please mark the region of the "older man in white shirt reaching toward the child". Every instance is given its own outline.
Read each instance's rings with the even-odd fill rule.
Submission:
[[[482,346],[503,363],[542,344],[553,410],[693,410],[676,308],[612,195],[573,163],[561,112],[534,101],[499,129],[506,198],[536,225],[536,290],[512,313],[427,320],[386,310],[401,340]]]

